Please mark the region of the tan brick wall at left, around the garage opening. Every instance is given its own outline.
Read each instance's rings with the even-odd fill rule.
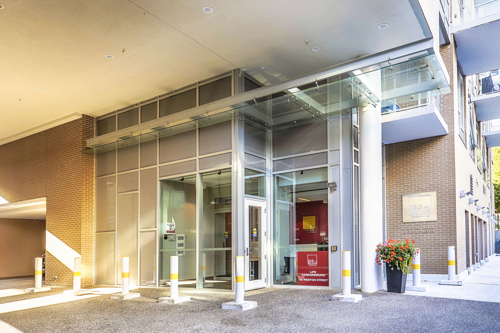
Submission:
[[[94,157],[80,151],[93,133],[93,118],[84,115],[0,146],[0,195],[47,198],[46,229],[81,254],[82,285],[94,275]],[[45,282],[72,283],[71,270],[49,253]]]

